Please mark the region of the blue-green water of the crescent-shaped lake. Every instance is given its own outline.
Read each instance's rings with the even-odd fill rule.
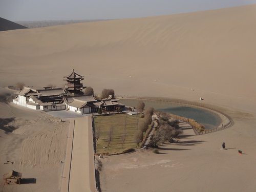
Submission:
[[[138,100],[136,99],[121,99],[121,103],[129,106],[136,106]],[[155,110],[163,111],[167,113],[172,113],[174,115],[179,115],[182,117],[194,119],[197,122],[203,124],[205,129],[212,129],[221,124],[221,118],[216,113],[212,113],[208,110],[203,110],[200,108],[193,108],[190,106],[179,106],[174,103],[169,102],[157,102],[157,101],[147,101],[143,100],[145,103],[145,108],[153,107]]]

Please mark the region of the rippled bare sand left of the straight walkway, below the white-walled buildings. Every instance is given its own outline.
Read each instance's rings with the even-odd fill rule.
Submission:
[[[9,91],[0,88],[2,95],[6,92]],[[3,191],[58,191],[68,125],[69,122],[60,122],[45,113],[0,102],[0,175],[16,170],[22,172],[27,182],[4,186],[1,179],[0,188]]]

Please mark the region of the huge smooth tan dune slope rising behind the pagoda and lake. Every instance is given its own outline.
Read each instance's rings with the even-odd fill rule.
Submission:
[[[98,92],[113,87],[148,95],[143,83],[149,83],[157,90],[175,85],[254,100],[255,19],[256,5],[250,5],[1,32],[1,85],[61,85],[75,68],[91,74],[86,83]]]

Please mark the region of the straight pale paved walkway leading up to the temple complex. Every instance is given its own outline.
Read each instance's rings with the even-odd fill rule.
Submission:
[[[92,117],[74,119],[74,129],[71,127],[69,133],[61,191],[97,192],[94,168]]]

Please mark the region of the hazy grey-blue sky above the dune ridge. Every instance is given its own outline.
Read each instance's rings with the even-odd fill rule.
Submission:
[[[247,4],[256,0],[0,0],[0,17],[12,21],[115,19]]]

